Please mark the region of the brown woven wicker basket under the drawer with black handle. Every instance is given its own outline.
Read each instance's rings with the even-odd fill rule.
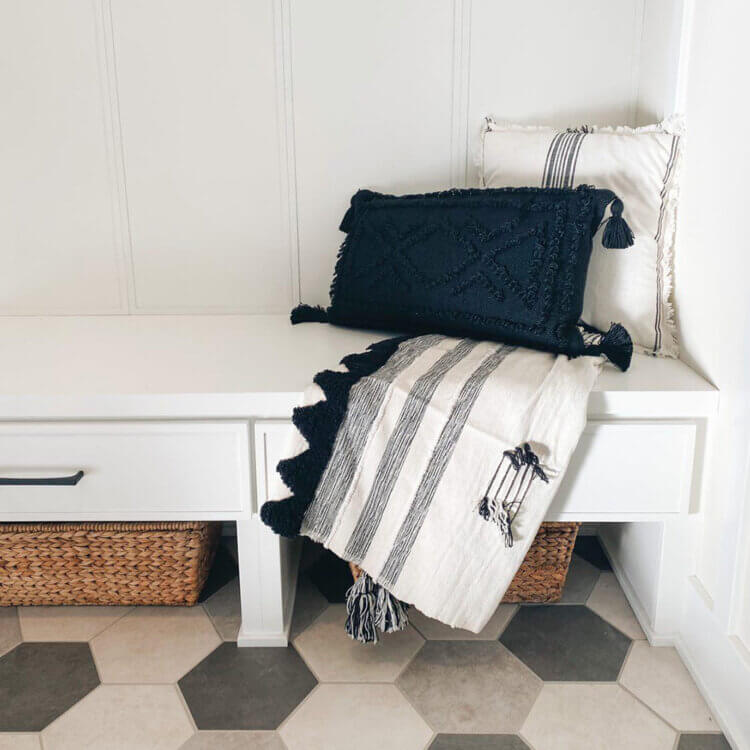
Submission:
[[[191,605],[220,523],[0,523],[0,606]]]

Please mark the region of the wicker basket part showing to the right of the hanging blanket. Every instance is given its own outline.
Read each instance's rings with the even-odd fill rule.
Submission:
[[[543,523],[503,601],[553,602],[562,596],[580,523]]]

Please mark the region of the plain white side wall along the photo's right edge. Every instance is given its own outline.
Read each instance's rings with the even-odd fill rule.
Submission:
[[[712,0],[694,12],[675,288],[683,357],[721,399],[680,640],[737,747],[749,748],[750,5]]]

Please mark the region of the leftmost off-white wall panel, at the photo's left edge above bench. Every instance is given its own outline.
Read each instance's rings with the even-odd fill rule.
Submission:
[[[0,313],[127,310],[100,8],[0,4]]]

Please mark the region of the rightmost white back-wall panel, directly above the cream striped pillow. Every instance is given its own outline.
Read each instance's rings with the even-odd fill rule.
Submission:
[[[645,0],[472,0],[469,130],[524,124],[630,124]]]

